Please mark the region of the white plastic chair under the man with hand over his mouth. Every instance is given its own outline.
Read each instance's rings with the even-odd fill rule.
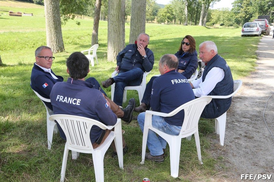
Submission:
[[[111,74],[111,78],[113,78],[114,76],[116,76],[118,72],[117,71],[114,71],[112,74]],[[141,105],[141,101],[142,101],[142,98],[143,98],[143,95],[145,93],[145,89],[146,89],[146,76],[150,73],[149,72],[144,72],[143,74],[143,79],[142,79],[142,83],[141,85],[139,86],[126,86],[125,89],[124,89],[124,95],[123,95],[123,102],[127,101],[127,90],[137,90],[138,91],[138,95],[139,95],[139,102],[140,102],[140,105]],[[115,89],[115,83],[113,83],[111,85],[111,100],[113,101],[113,98],[114,98],[114,89]]]

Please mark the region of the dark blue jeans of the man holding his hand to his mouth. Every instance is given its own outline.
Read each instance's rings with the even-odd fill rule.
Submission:
[[[117,76],[114,76],[114,103],[116,103],[118,106],[122,106],[125,86],[138,86],[142,83],[142,78],[143,71],[140,68],[133,68],[127,72],[121,71]]]

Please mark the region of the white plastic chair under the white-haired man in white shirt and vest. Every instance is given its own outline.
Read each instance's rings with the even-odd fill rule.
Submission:
[[[241,80],[234,80],[234,86],[233,86],[233,93],[228,96],[210,96],[212,99],[227,99],[229,97],[234,96],[235,93],[238,92],[238,90],[242,86]],[[215,131],[217,134],[220,135],[220,145],[223,146],[224,142],[224,135],[226,131],[226,121],[227,121],[227,112],[223,113],[221,116],[215,118]]]

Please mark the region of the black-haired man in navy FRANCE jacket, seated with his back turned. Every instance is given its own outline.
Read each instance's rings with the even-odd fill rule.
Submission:
[[[50,94],[54,114],[69,114],[88,117],[105,125],[115,125],[117,116],[112,112],[111,105],[98,89],[85,81],[89,69],[89,61],[81,52],[72,53],[67,61],[67,72],[70,76],[67,82],[55,83]],[[60,136],[66,140],[65,134],[57,123]],[[90,140],[93,148],[104,142],[110,130],[92,126]],[[115,149],[114,142],[112,146]],[[123,139],[123,147],[126,143]]]

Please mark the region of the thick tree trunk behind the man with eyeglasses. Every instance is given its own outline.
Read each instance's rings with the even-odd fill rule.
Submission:
[[[46,17],[46,36],[47,46],[53,53],[63,52],[65,50],[62,29],[59,0],[44,0]]]

